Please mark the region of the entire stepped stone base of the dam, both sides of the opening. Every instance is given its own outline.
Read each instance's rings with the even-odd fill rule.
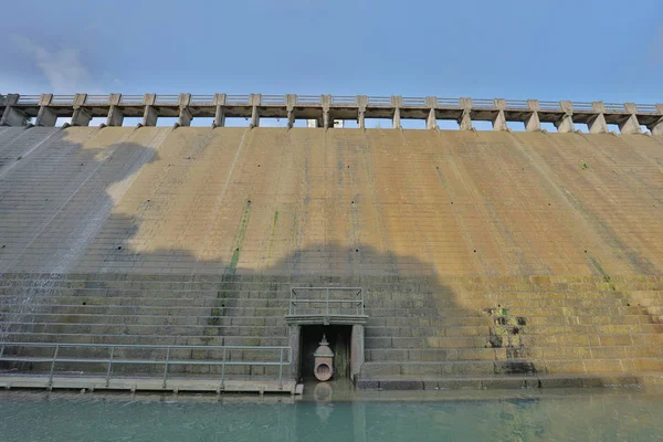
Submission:
[[[663,370],[660,276],[6,274],[0,280],[2,338],[286,346],[284,316],[294,285],[364,287],[369,315],[365,382],[394,377],[613,376]],[[162,358],[149,351],[141,356]],[[180,357],[221,356],[193,350]],[[246,360],[252,356],[236,352],[229,357]],[[150,372],[154,367],[140,369]],[[214,367],[178,369],[218,372]],[[273,371],[235,367],[229,373]]]

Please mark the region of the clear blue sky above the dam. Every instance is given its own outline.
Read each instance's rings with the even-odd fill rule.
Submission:
[[[2,17],[0,93],[663,101],[661,0],[9,1]]]

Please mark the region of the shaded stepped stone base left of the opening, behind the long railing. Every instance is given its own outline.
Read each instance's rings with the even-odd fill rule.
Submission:
[[[290,284],[287,284],[290,286]],[[287,346],[287,286],[236,276],[4,275],[0,280],[2,339],[180,346]],[[52,349],[42,350],[50,356]],[[162,360],[164,349],[117,349]],[[30,349],[31,356],[39,350]],[[108,349],[70,349],[71,356],[104,357]],[[76,354],[77,352],[77,354]],[[222,359],[220,350],[177,350],[171,358]],[[261,360],[265,352],[229,350],[228,360]],[[276,357],[278,360],[278,357]],[[44,369],[35,366],[32,370]],[[71,366],[72,369],[81,367]],[[87,366],[85,368],[88,368]],[[25,367],[22,367],[25,369]],[[91,367],[103,371],[104,367]],[[158,372],[150,366],[130,372]],[[115,371],[122,370],[122,366]],[[219,373],[220,367],[178,366],[172,372]],[[227,367],[227,375],[263,376],[277,367]]]

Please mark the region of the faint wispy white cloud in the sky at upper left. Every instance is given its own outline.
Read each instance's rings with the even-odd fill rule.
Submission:
[[[55,94],[91,92],[91,75],[81,61],[78,50],[63,48],[49,51],[22,35],[12,35],[12,40],[20,51],[34,60],[51,85],[50,92]]]

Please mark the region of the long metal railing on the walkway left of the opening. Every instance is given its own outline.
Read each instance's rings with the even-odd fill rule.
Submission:
[[[44,357],[31,357],[31,356],[6,356],[7,348],[53,348],[53,355]],[[63,349],[106,349],[108,351],[107,357],[101,358],[78,358],[71,356],[62,356],[61,350]],[[145,359],[145,358],[120,358],[117,357],[116,350],[165,350],[166,355],[162,360],[157,359]],[[173,350],[207,350],[207,351],[220,351],[221,360],[203,360],[203,359],[172,359],[171,354]],[[266,361],[254,361],[254,360],[230,360],[231,351],[272,351],[274,355],[278,352],[278,360],[266,360]],[[285,346],[181,346],[181,345],[129,345],[129,344],[60,344],[60,343],[2,343],[0,344],[0,361],[6,362],[41,362],[50,364],[49,370],[49,386],[53,383],[53,376],[55,375],[56,364],[103,364],[106,365],[106,387],[109,386],[113,377],[113,367],[117,365],[156,365],[164,366],[164,383],[162,388],[166,388],[168,381],[168,369],[172,366],[208,366],[208,367],[221,367],[221,379],[219,382],[219,389],[223,390],[225,387],[225,367],[227,366],[239,366],[239,367],[278,367],[278,387],[283,388],[283,367],[290,366],[292,361],[292,349]]]

